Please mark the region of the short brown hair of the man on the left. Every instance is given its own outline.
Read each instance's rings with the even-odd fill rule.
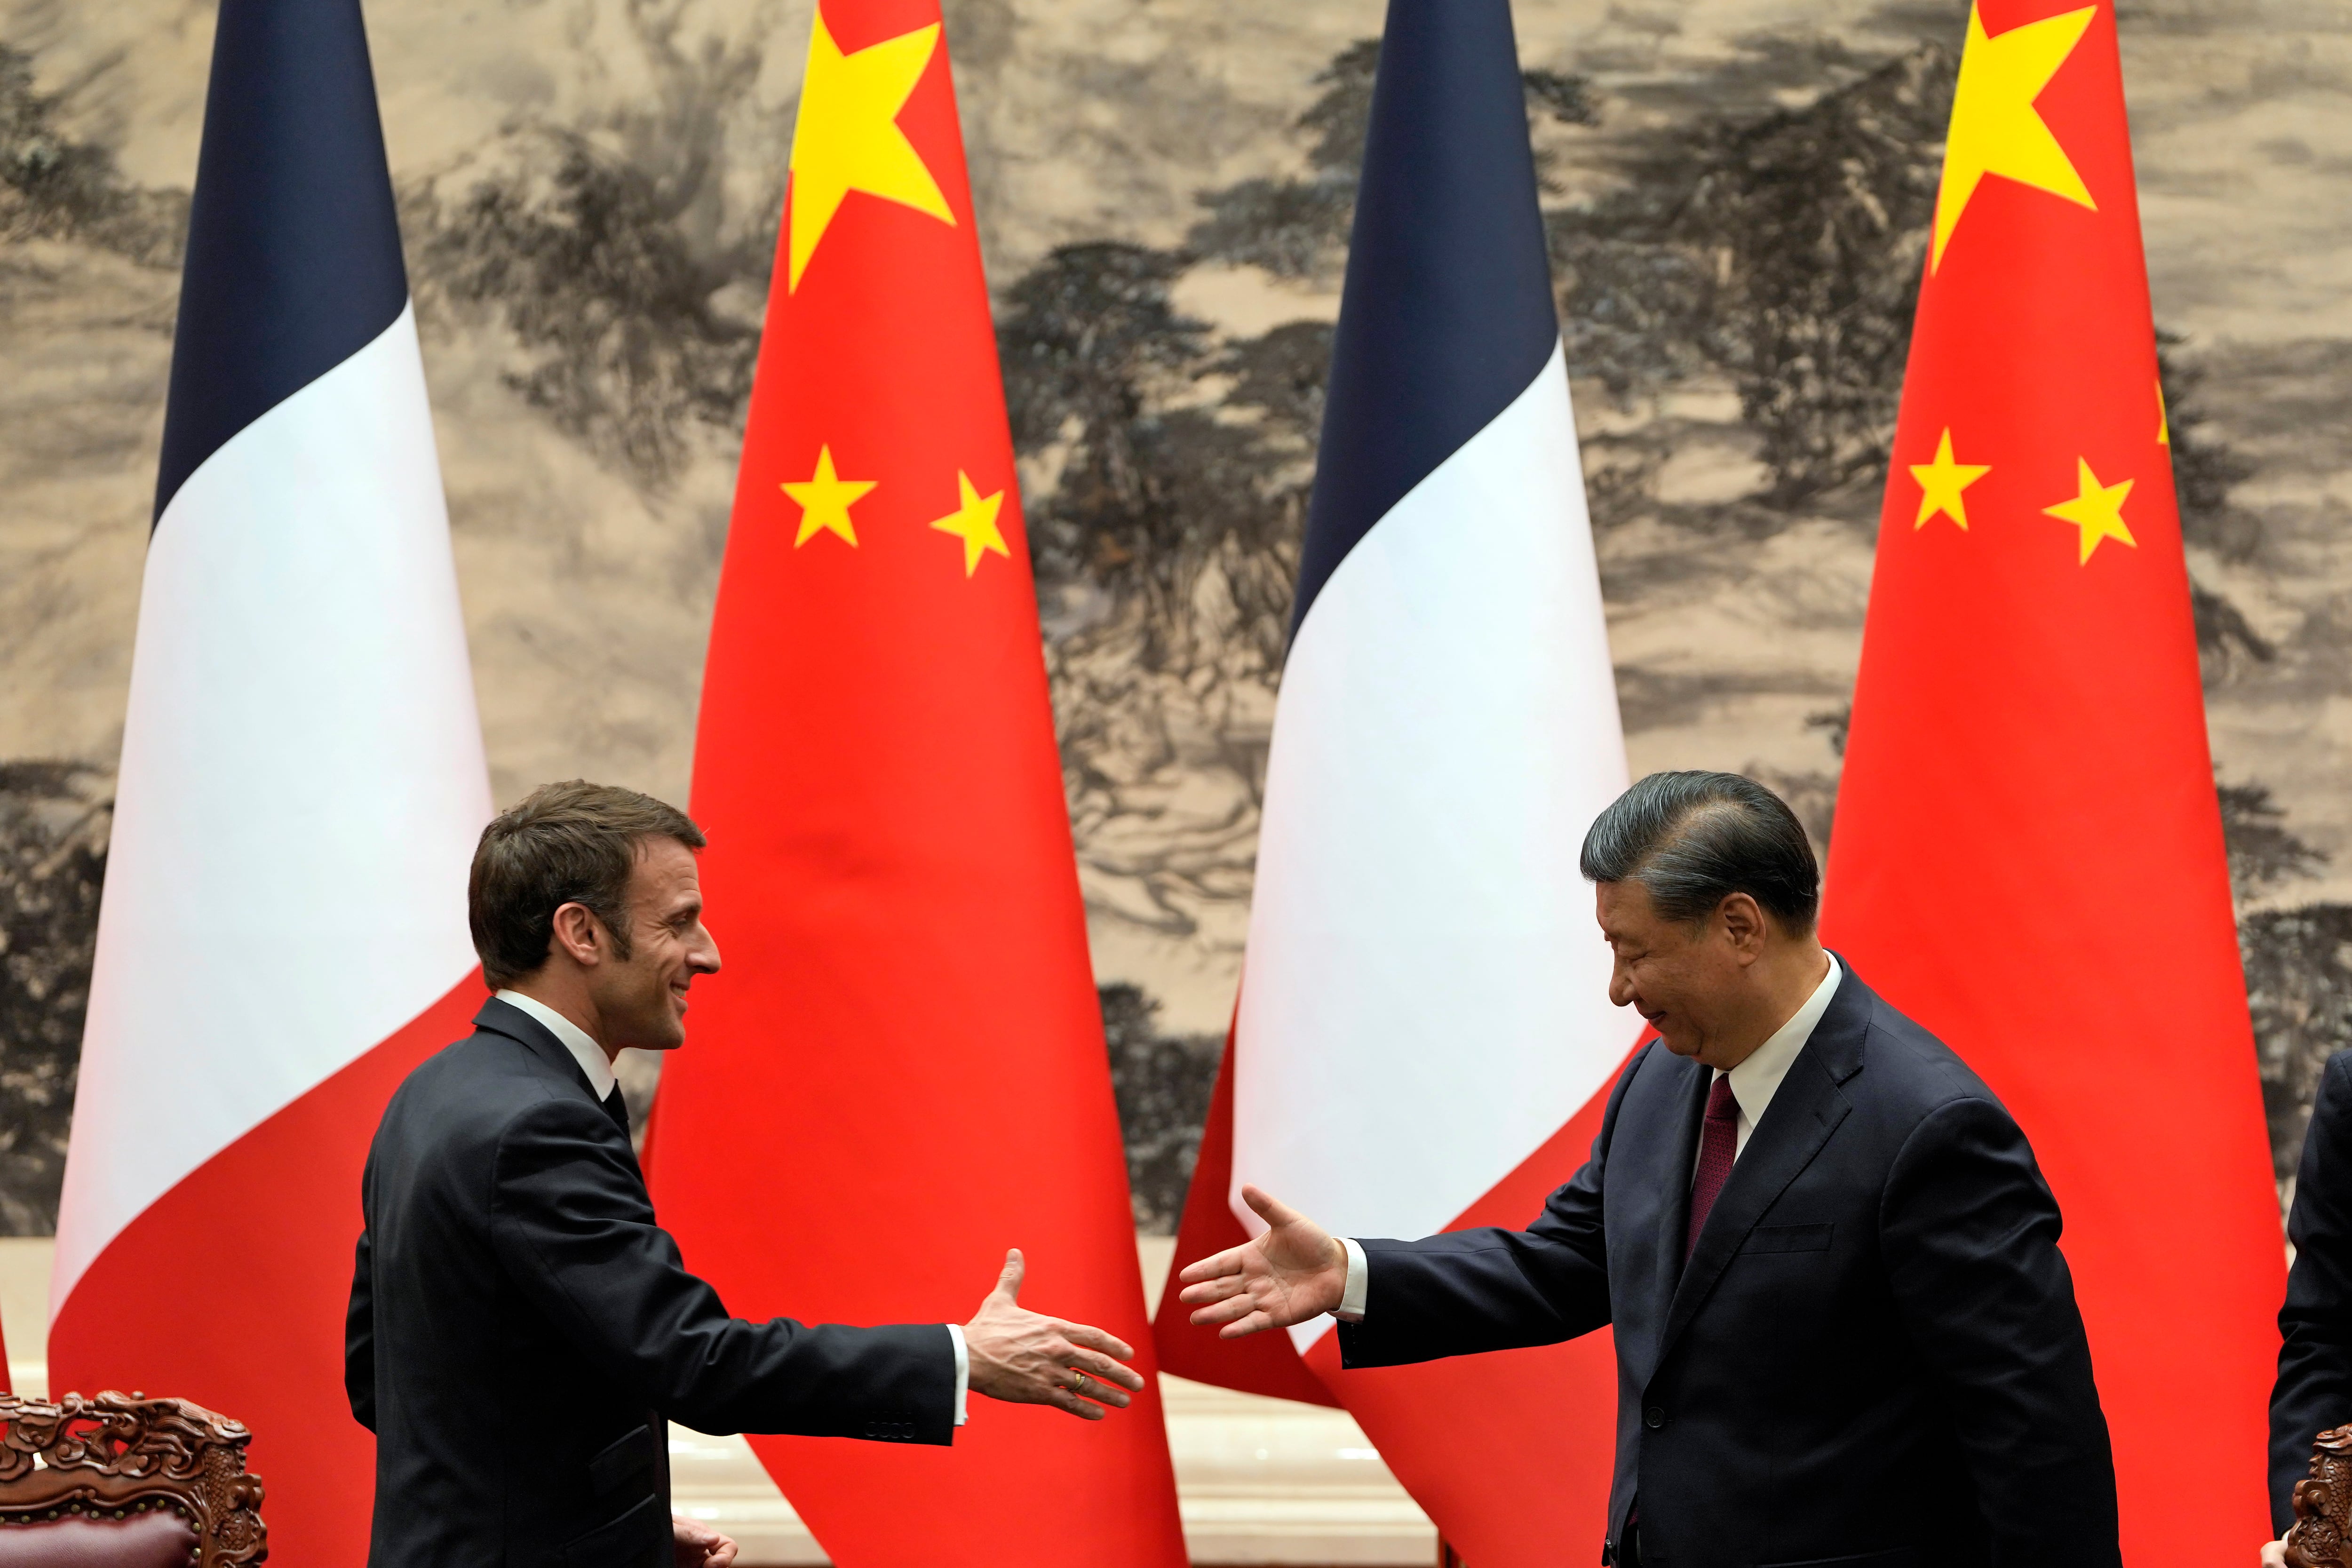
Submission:
[[[541,785],[494,816],[466,879],[466,924],[482,954],[482,980],[496,990],[546,964],[555,910],[567,903],[604,922],[614,954],[626,959],[628,877],[644,839],[706,844],[677,806],[583,778]]]

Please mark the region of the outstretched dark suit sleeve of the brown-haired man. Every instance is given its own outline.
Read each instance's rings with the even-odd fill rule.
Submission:
[[[546,1100],[499,1143],[492,1246],[590,1363],[699,1432],[948,1443],[955,1349],[943,1324],[748,1324],[684,1269],[612,1119]]]

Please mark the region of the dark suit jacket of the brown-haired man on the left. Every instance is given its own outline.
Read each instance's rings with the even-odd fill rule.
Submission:
[[[343,1371],[376,1434],[374,1568],[668,1563],[663,1418],[955,1432],[946,1326],[727,1316],[579,1063],[506,1001],[393,1095],[360,1201]]]

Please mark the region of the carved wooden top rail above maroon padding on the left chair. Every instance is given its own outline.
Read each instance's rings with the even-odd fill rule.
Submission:
[[[125,1519],[169,1507],[195,1530],[198,1568],[268,1556],[252,1432],[186,1399],[0,1394],[0,1533],[54,1519]]]

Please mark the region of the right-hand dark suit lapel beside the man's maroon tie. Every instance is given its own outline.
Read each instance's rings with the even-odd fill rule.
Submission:
[[[1844,966],[1844,959],[1839,964]],[[1700,1302],[1708,1300],[1708,1291],[1731,1267],[1731,1258],[1748,1241],[1748,1232],[1788,1192],[1797,1173],[1813,1164],[1813,1157],[1830,1143],[1837,1124],[1853,1110],[1839,1084],[1860,1072],[1863,1037],[1867,1030],[1870,992],[1849,969],[1837,983],[1830,1009],[1813,1025],[1813,1037],[1804,1041],[1797,1060],[1790,1063],[1788,1077],[1780,1079],[1778,1093],[1773,1093],[1771,1105],[1764,1110],[1764,1121],[1748,1135],[1748,1147],[1740,1152],[1738,1164],[1731,1166],[1731,1178],[1715,1199],[1708,1229],[1698,1237],[1698,1251],[1691,1253],[1691,1262],[1682,1269],[1682,1284],[1675,1286],[1675,1300],[1665,1314],[1665,1333],[1658,1340],[1661,1361],[1675,1345],[1675,1335],[1698,1314]],[[1712,1074],[1703,1077],[1712,1079]],[[1689,1232],[1689,1182],[1684,1182],[1679,1213],[1684,1218],[1675,1234],[1670,1239],[1661,1237],[1661,1241],[1670,1241],[1677,1251]]]

